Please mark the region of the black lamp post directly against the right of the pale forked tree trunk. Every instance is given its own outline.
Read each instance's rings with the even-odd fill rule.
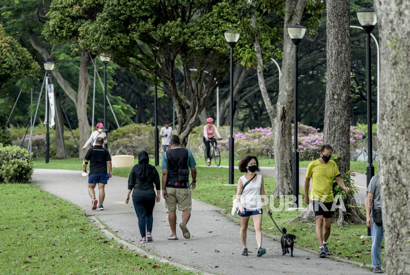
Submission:
[[[293,175],[292,175],[292,195],[295,199],[296,208],[299,207],[299,151],[297,150],[297,50],[298,45],[302,41],[305,35],[306,28],[296,23],[290,27],[287,27],[287,33],[290,36],[293,44],[295,45],[295,68],[294,68],[294,99],[293,99],[293,152],[292,152],[292,162],[293,162]]]

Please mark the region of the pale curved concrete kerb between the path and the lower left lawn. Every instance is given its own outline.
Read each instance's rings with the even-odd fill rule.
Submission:
[[[137,247],[137,246],[135,246],[131,243],[128,243],[128,242],[124,241],[123,239],[115,236],[113,233],[111,233],[110,231],[105,229],[105,227],[101,224],[101,222],[95,216],[87,216],[87,218],[88,218],[88,220],[90,220],[90,222],[94,226],[96,226],[98,229],[100,229],[107,236],[107,238],[116,240],[119,244],[122,244],[123,246],[128,247],[130,250],[132,250],[132,251],[134,251],[134,252],[136,252],[140,255],[147,256],[150,259],[154,259],[154,260],[159,261],[161,263],[168,264],[168,265],[174,266],[176,268],[180,268],[180,269],[190,271],[190,272],[193,272],[193,273],[196,273],[196,274],[214,275],[212,273],[207,273],[207,272],[199,270],[199,269],[195,269],[195,268],[192,268],[192,267],[181,265],[179,263],[171,262],[171,261],[166,260],[164,258],[161,258],[157,255],[153,255],[151,253],[148,253],[145,250],[143,250],[143,249],[141,249],[141,248],[139,248],[139,247]]]

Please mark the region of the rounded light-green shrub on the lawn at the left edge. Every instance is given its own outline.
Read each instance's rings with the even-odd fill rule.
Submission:
[[[30,153],[19,146],[0,147],[0,182],[28,183],[33,176]]]

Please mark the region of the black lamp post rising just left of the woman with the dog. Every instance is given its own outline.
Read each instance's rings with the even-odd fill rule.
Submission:
[[[229,120],[229,184],[234,184],[234,46],[239,40],[239,33],[231,30],[224,33],[226,42],[231,47],[231,68],[230,68],[230,120]]]

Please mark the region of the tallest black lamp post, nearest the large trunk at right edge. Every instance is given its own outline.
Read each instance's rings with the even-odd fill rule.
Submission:
[[[369,186],[371,178],[374,176],[373,166],[373,148],[371,140],[371,64],[370,64],[370,33],[373,31],[374,26],[377,23],[376,13],[374,9],[369,6],[361,9],[357,12],[357,18],[366,32],[366,72],[367,72],[367,94],[368,94],[368,165],[366,167],[367,181],[366,186]],[[370,235],[370,229],[368,228],[368,235]]]

